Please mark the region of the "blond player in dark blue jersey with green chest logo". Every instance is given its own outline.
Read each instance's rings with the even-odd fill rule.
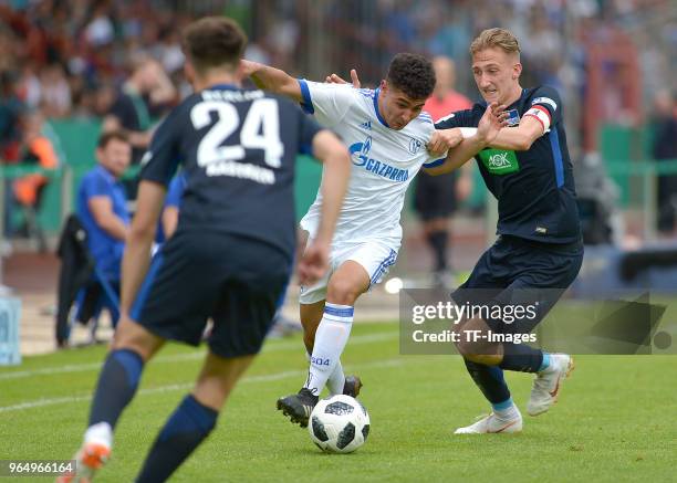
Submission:
[[[513,311],[518,306],[524,311],[537,308],[533,317],[531,312],[517,321],[512,316],[483,315],[459,325],[458,349],[492,412],[456,433],[510,433],[522,430],[522,416],[512,401],[503,370],[535,374],[527,412],[538,416],[558,400],[562,381],[573,369],[573,359],[523,343],[494,340],[523,337],[543,319],[576,277],[583,262],[583,242],[560,95],[549,86],[520,85],[519,42],[504,29],[481,32],[470,45],[470,53],[475,81],[485,102],[440,119],[435,127],[445,130],[438,132],[430,149],[440,149],[445,136],[454,136],[455,132],[467,139],[475,138],[475,127],[487,104],[506,106],[509,126],[473,156],[487,188],[498,198],[499,239],[482,254],[452,298],[459,305],[498,307],[503,314],[506,308]],[[353,86],[360,87],[356,73],[352,76]],[[345,82],[335,75],[330,81]],[[448,158],[429,172],[449,172],[468,159]],[[473,330],[480,342],[472,340]]]

